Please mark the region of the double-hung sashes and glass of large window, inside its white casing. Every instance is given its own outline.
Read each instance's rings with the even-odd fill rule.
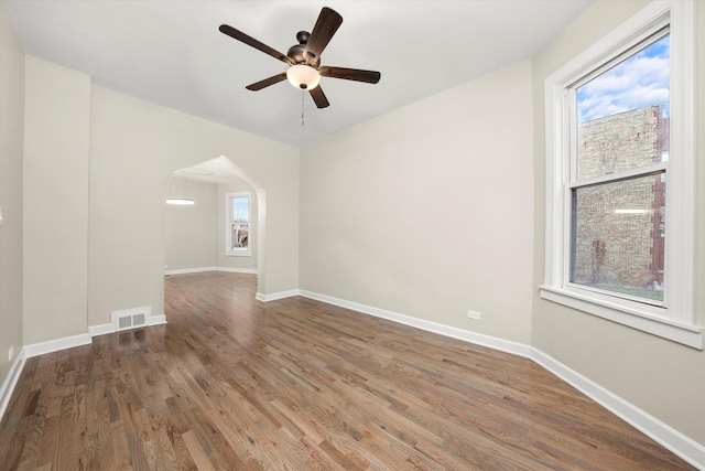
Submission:
[[[668,28],[566,88],[568,281],[661,306],[669,156]]]

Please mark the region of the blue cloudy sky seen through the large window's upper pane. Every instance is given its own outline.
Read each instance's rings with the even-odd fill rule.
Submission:
[[[578,122],[663,105],[669,116],[670,34],[577,89]]]

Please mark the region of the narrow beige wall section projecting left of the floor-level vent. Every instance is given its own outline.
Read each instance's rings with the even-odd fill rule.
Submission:
[[[90,77],[26,56],[24,341],[87,332]]]

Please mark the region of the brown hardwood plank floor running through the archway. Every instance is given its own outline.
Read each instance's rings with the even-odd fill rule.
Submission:
[[[1,469],[693,469],[529,360],[254,282],[167,277],[169,324],[28,360]]]

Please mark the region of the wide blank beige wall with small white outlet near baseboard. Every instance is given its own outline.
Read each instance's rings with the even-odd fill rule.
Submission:
[[[530,62],[303,148],[301,288],[529,343],[532,171]]]

